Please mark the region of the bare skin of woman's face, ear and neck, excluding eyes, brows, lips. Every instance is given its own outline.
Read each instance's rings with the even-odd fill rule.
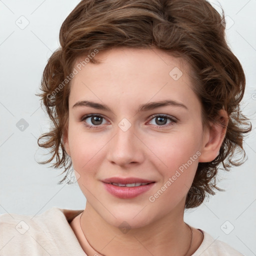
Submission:
[[[86,197],[81,227],[80,214],[70,226],[89,256],[95,254],[91,246],[111,256],[184,255],[190,241],[189,228],[183,221],[186,194],[198,162],[216,157],[226,129],[212,124],[203,132],[201,103],[192,90],[191,69],[184,60],[156,48],[111,49],[95,57],[101,63],[87,63],[74,76],[70,87],[64,146]],[[178,80],[169,75],[174,67],[183,73]],[[167,105],[136,112],[140,104],[165,99],[180,102],[187,109]],[[105,104],[112,112],[73,107],[82,100]],[[82,120],[86,114],[101,115],[102,123],[95,125],[90,117]],[[176,122],[166,118],[161,125],[154,114],[168,115]],[[226,112],[221,110],[219,116],[227,125]],[[126,131],[118,126],[123,118],[131,124]],[[197,151],[200,155],[189,167],[150,202],[149,196]],[[101,182],[113,176],[146,178],[155,183],[137,197],[121,199],[107,192]],[[123,221],[131,228],[126,233],[118,228]],[[202,233],[193,228],[189,255],[202,239]]]

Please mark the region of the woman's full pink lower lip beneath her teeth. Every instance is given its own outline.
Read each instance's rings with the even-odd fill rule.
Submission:
[[[112,185],[111,183],[105,182],[103,182],[103,185],[110,194],[119,198],[127,199],[136,197],[148,191],[154,185],[154,182],[141,186],[115,186]]]

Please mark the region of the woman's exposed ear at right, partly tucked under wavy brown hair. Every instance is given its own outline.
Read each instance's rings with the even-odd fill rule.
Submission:
[[[199,162],[210,162],[214,160],[226,134],[228,115],[224,109],[219,111],[218,122],[211,123],[210,128],[206,128],[201,145]]]

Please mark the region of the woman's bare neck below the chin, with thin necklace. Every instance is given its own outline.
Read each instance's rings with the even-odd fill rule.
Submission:
[[[190,245],[191,232],[183,221],[183,212],[183,206],[176,207],[168,215],[150,224],[122,229],[107,223],[86,203],[80,224],[90,246],[84,243],[84,250],[88,254],[94,251],[92,247],[97,253],[106,256],[184,255]]]

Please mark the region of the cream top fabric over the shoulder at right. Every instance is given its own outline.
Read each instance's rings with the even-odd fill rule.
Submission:
[[[201,229],[200,229],[201,230]],[[227,243],[214,239],[210,234],[203,232],[203,241],[191,256],[244,256]]]

